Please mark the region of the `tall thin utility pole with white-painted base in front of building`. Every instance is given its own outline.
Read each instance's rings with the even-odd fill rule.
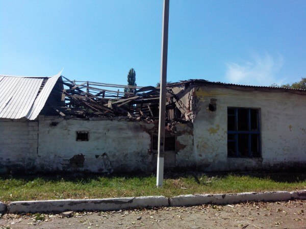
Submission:
[[[165,147],[165,119],[166,119],[166,85],[167,85],[167,57],[168,57],[168,24],[169,0],[164,0],[163,29],[162,29],[162,57],[161,83],[158,126],[158,157],[156,186],[162,187],[164,182],[164,147]]]

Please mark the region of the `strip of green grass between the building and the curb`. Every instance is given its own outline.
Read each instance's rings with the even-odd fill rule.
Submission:
[[[306,174],[173,174],[165,175],[163,188],[155,188],[154,175],[0,176],[0,201],[63,198],[109,198],[195,193],[237,193],[306,189]]]

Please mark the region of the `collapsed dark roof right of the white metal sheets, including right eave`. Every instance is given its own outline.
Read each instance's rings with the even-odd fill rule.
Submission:
[[[157,119],[159,114],[159,87],[139,87],[117,84],[105,84],[90,81],[71,81],[63,77],[64,107],[58,108],[64,115],[78,117],[114,117]],[[166,121],[191,121],[195,115],[194,101],[191,101],[192,89],[198,86],[226,87],[237,90],[289,91],[305,94],[305,90],[279,87],[245,86],[209,82],[206,80],[188,80],[167,84]],[[106,89],[109,88],[109,89]],[[110,89],[116,88],[117,90]],[[120,90],[121,89],[121,90]],[[123,89],[129,89],[124,92]]]

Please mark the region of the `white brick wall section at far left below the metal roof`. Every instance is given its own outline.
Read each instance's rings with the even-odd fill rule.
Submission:
[[[38,122],[0,119],[0,174],[35,172]]]

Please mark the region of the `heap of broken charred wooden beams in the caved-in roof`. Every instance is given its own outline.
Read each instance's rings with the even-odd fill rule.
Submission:
[[[58,111],[63,114],[77,117],[127,116],[137,120],[140,117],[156,118],[154,114],[159,107],[160,94],[160,89],[157,87],[71,81],[63,78],[66,79],[63,84],[67,87],[61,91],[65,107],[58,108]],[[119,88],[130,88],[134,91],[123,92]],[[167,109],[173,109],[176,102],[175,95],[167,91],[166,96]]]

